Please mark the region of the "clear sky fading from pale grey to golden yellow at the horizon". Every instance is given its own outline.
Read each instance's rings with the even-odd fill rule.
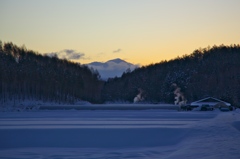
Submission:
[[[240,0],[0,0],[0,40],[82,64],[149,65],[240,43]]]

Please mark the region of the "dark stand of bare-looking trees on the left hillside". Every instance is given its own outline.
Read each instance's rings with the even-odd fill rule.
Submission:
[[[102,83],[98,72],[87,66],[0,42],[0,103],[27,99],[97,103]]]

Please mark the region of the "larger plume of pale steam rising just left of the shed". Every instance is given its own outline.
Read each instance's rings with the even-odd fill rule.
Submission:
[[[173,83],[172,87],[174,87],[173,93],[175,95],[174,104],[179,106],[185,105],[187,103],[187,99],[185,98],[183,92],[181,92],[181,88],[178,87],[176,83]]]

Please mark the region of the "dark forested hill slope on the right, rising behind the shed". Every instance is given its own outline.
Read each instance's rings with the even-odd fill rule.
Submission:
[[[176,83],[188,102],[213,96],[240,103],[240,46],[213,46],[190,55],[162,61],[108,80],[102,92],[106,101],[133,101],[141,88],[145,101],[173,103]]]

